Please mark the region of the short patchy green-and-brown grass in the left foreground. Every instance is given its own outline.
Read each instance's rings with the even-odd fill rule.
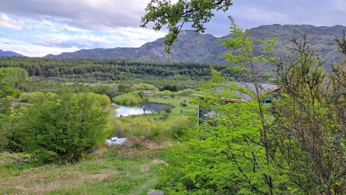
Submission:
[[[129,141],[120,148],[102,147],[73,165],[3,163],[0,194],[147,194],[165,164],[156,153],[161,147]],[[11,155],[1,154],[0,162]]]

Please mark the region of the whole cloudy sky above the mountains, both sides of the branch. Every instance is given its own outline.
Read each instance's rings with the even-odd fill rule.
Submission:
[[[139,27],[149,1],[0,0],[0,49],[42,57],[87,48],[139,47],[167,32]],[[346,26],[346,0],[233,0],[228,12],[216,12],[206,33],[229,34],[228,15],[242,28]]]

